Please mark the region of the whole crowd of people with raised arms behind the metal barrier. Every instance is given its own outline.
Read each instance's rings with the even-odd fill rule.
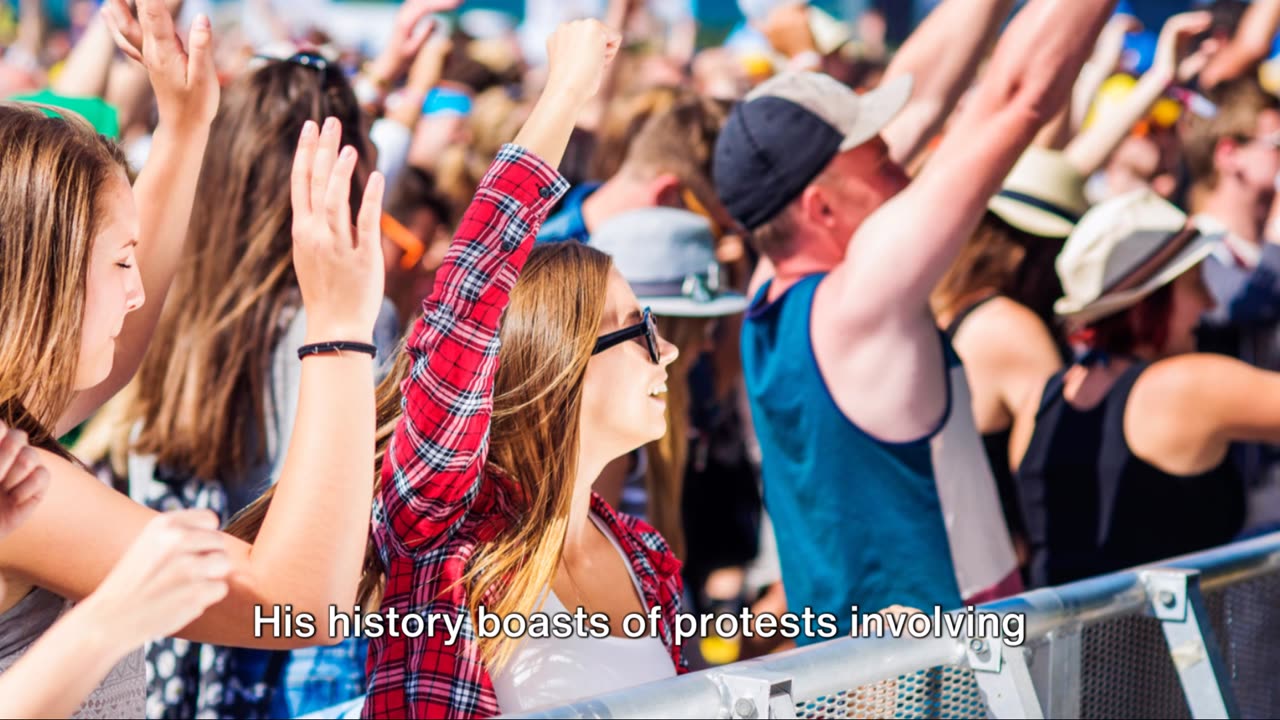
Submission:
[[[823,639],[684,614],[849,635],[1280,530],[1280,0],[1140,68],[1116,0],[1018,5],[699,47],[609,0],[529,56],[461,0],[372,53],[18,3],[0,714],[545,710]]]

